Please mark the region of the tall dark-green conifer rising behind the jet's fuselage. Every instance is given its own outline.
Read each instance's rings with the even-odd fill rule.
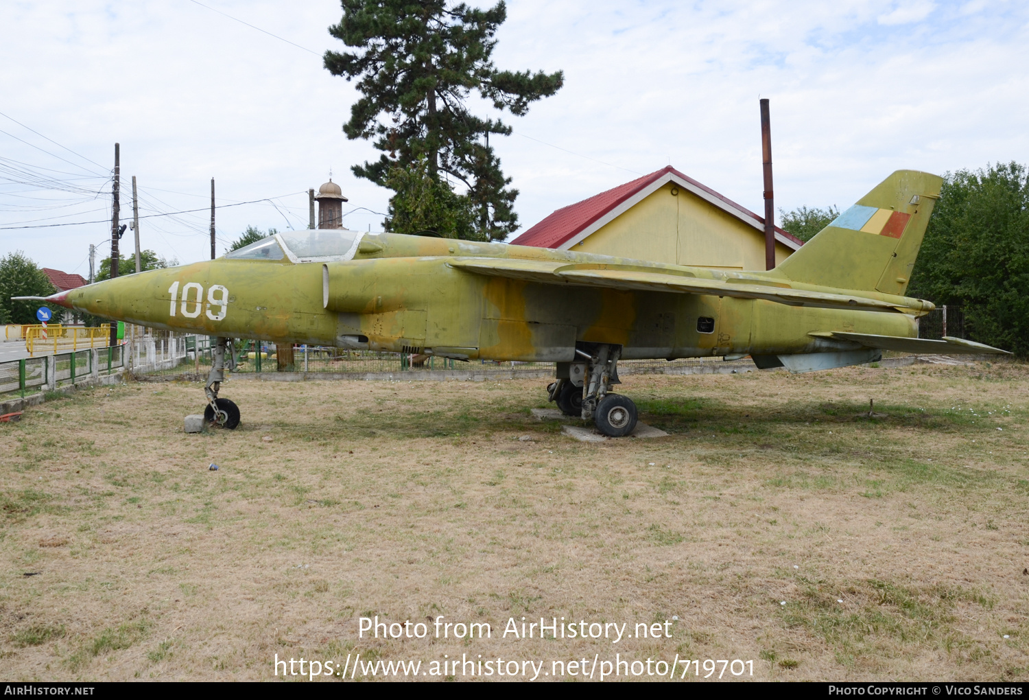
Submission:
[[[492,61],[496,31],[507,18],[503,2],[477,9],[448,0],[342,0],[343,20],[329,33],[353,51],[326,51],[325,68],[356,79],[362,97],[351,106],[343,130],[350,139],[374,139],[383,151],[376,163],[353,167],[358,177],[386,186],[402,186],[421,171],[441,184],[463,186],[460,198],[437,194],[434,211],[446,229],[464,211],[474,212],[467,235],[501,240],[518,227],[512,207],[518,190],[509,188],[490,134],[508,135],[499,119],[472,114],[472,91],[498,110],[521,116],[529,104],[554,95],[564,76],[497,70]],[[400,167],[411,177],[394,175]],[[421,186],[415,178],[416,189]],[[401,199],[410,192],[395,190]],[[407,205],[399,204],[398,210]],[[452,209],[446,209],[452,207]],[[443,211],[448,211],[446,215]]]

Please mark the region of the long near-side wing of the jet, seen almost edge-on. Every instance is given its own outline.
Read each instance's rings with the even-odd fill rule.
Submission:
[[[560,260],[526,260],[497,257],[459,257],[450,265],[460,270],[524,279],[543,284],[573,284],[587,287],[608,287],[638,291],[666,291],[685,294],[712,294],[737,299],[764,299],[769,302],[789,306],[820,307],[825,309],[861,309],[864,311],[921,311],[899,307],[889,302],[851,294],[835,294],[821,291],[807,291],[776,286],[774,282],[746,283],[723,282],[694,277],[690,273],[676,270],[653,270],[646,268],[613,266],[589,267]]]

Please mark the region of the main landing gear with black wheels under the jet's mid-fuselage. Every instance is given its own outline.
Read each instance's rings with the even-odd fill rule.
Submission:
[[[569,416],[593,419],[605,435],[620,437],[636,428],[636,405],[611,393],[620,384],[617,373],[620,345],[579,343],[576,361],[558,364],[558,381],[547,387],[549,399]]]

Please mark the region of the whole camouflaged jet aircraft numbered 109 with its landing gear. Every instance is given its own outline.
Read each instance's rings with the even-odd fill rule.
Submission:
[[[918,338],[931,303],[904,295],[943,180],[897,171],[770,271],[734,272],[502,243],[291,231],[215,260],[116,277],[46,301],[216,337],[208,420],[229,339],[555,362],[548,398],[612,436],[636,407],[612,388],[623,359],[750,355],[759,369],[827,370],[883,350],[1005,353]]]

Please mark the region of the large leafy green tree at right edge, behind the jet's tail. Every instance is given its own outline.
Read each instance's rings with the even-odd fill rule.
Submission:
[[[1026,166],[945,175],[908,295],[960,305],[971,340],[1029,355]]]

